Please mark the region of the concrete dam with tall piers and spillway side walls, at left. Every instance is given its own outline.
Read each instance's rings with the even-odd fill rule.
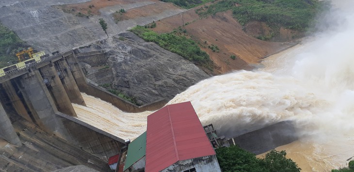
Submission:
[[[46,139],[49,136],[57,138],[51,138],[48,142],[62,139],[62,142],[72,143],[74,147],[73,145],[66,147],[69,152],[81,149],[81,153],[78,151],[80,157],[76,157],[80,159],[85,158],[81,155],[86,155],[88,158],[86,162],[91,161],[88,166],[101,164],[99,168],[97,166],[91,167],[99,171],[106,171],[108,157],[118,154],[125,141],[78,120],[72,104],[86,106],[80,92],[92,93],[93,96],[112,102],[114,106],[128,112],[156,110],[166,103],[158,101],[138,107],[93,84],[86,83],[86,78],[73,50],[45,57],[35,63],[1,74],[0,89],[0,138],[14,146],[23,147],[26,142],[36,142],[28,140],[35,137],[23,138],[24,136],[45,132],[48,134]],[[35,125],[40,128],[37,129]],[[29,128],[32,131],[30,133],[27,132],[30,130]],[[36,131],[41,129],[43,131]],[[43,138],[39,140],[43,140]],[[60,144],[58,143],[58,145]],[[55,148],[55,145],[51,146]],[[82,150],[87,153],[82,153]],[[60,155],[59,153],[55,154]],[[62,157],[65,158],[65,155]],[[50,159],[50,157],[48,158]],[[96,162],[92,160],[93,158],[97,159]],[[48,169],[41,170],[34,168],[34,170],[55,170],[64,163],[57,162],[56,164],[59,167],[48,167]],[[63,166],[78,164],[64,164]],[[21,169],[16,165],[13,165],[13,168]],[[10,169],[11,166],[7,170]]]

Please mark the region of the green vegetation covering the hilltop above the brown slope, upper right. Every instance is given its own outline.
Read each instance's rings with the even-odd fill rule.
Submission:
[[[250,21],[266,22],[271,27],[307,31],[315,16],[329,7],[319,0],[221,0],[208,8],[196,9],[199,16],[232,10],[241,25]],[[273,37],[274,35],[271,35]],[[269,39],[264,37],[263,39]]]

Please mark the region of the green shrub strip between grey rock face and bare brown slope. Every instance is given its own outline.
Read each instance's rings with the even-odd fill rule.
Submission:
[[[154,42],[160,47],[177,53],[193,63],[197,63],[205,67],[209,67],[212,63],[209,59],[209,55],[205,51],[202,51],[192,39],[178,35],[179,32],[177,30],[159,34],[148,30],[145,27],[136,26],[129,31],[132,31],[145,41]]]

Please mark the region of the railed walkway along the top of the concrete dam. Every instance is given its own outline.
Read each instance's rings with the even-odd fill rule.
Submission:
[[[72,50],[66,50],[61,53],[49,56],[47,58],[43,58],[41,60],[38,60],[36,62],[29,63],[24,66],[17,67],[16,69],[12,69],[12,70],[6,71],[4,73],[1,73],[0,74],[0,82],[21,76],[23,74],[26,74],[31,67],[37,67],[37,66],[40,66],[40,65],[48,63],[48,62],[57,61],[63,57],[67,57],[67,56],[71,55],[72,53],[73,53]]]

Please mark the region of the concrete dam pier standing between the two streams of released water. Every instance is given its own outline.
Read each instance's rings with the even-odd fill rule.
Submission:
[[[63,75],[61,79],[66,94],[69,96],[71,103],[76,103],[82,106],[86,106],[85,101],[82,98],[79,87],[75,82],[73,75],[71,74],[70,67],[64,59],[57,61],[57,70],[59,69]]]

